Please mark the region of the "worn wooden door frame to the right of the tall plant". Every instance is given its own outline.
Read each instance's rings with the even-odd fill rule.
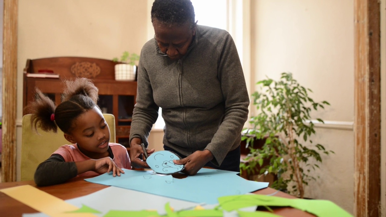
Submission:
[[[354,0],[354,214],[380,215],[381,11],[378,0]]]

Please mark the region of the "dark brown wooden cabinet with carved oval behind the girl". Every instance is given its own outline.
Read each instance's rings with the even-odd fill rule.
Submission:
[[[84,57],[54,57],[28,59],[24,68],[23,110],[34,100],[35,88],[49,96],[56,105],[61,103],[63,79],[86,77],[99,89],[98,105],[104,113],[115,116],[117,143],[129,147],[131,117],[137,96],[137,81],[115,81],[114,66],[107,59]],[[59,78],[31,78],[27,73],[52,70]],[[24,110],[23,115],[27,114]]]

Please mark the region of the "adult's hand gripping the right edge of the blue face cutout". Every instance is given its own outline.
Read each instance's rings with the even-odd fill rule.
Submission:
[[[204,151],[195,151],[186,158],[173,160],[173,163],[178,165],[184,164],[185,168],[182,172],[193,176],[212,159],[213,154],[206,149]]]

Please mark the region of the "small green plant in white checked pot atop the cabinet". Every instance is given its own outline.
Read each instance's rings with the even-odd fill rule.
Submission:
[[[120,58],[113,58],[114,62],[120,62],[115,65],[115,80],[117,81],[134,81],[137,72],[136,62],[139,56],[135,53],[130,54],[125,51]]]

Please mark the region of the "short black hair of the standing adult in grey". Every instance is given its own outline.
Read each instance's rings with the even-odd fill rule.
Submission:
[[[183,25],[186,22],[195,27],[195,14],[190,0],[155,0],[151,8],[151,22],[157,20],[165,25]]]

